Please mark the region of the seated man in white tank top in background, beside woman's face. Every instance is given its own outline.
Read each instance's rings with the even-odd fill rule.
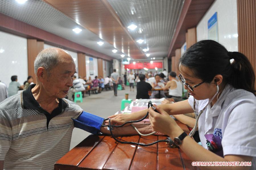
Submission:
[[[173,98],[175,102],[182,101],[182,83],[176,79],[176,73],[170,72],[169,81],[162,87],[163,90],[169,90],[168,98]]]

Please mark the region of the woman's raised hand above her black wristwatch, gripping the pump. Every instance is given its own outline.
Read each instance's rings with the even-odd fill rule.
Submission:
[[[149,120],[154,131],[167,134],[171,138],[177,137],[183,132],[166,111],[155,104],[154,107],[159,113],[155,112],[152,107],[148,109]]]

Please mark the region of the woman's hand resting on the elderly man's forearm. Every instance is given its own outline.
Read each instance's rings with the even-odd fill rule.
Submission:
[[[113,125],[115,123],[115,125],[122,125],[125,122],[131,121],[131,116],[130,114],[117,114],[117,115],[112,115],[109,116],[108,118],[111,118],[111,125]],[[105,125],[109,124],[109,120],[105,121]],[[127,123],[124,126],[128,126],[131,125],[131,123]]]

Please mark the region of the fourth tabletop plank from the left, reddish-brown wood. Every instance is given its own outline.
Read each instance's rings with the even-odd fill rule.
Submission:
[[[155,142],[157,136],[141,136],[140,143],[148,144]],[[138,146],[135,152],[131,170],[133,169],[156,169],[157,167],[157,144],[151,146]]]

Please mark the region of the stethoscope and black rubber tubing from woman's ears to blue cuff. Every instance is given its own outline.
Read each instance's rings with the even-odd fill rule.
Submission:
[[[205,105],[205,107],[204,107],[201,111],[199,111],[199,114],[198,114],[198,115],[197,115],[197,113],[196,113],[196,111],[195,111],[195,99],[194,99],[194,112],[195,112],[196,123],[195,123],[194,128],[193,128],[193,129],[191,130],[191,132],[189,133],[189,137],[191,137],[191,136],[193,136],[193,135],[195,134],[195,131],[196,131],[196,128],[197,128],[198,119],[199,119],[200,115],[204,112],[204,110],[205,110],[206,107],[209,105],[209,103],[211,103],[212,100],[213,100],[213,99],[216,97],[216,95],[218,94],[218,92],[219,92],[219,86],[218,86],[218,84],[216,84],[216,86],[217,86],[217,91],[216,91],[216,93],[215,93],[214,96],[209,100],[209,102],[207,103],[207,105]],[[148,102],[148,108],[149,108],[150,106],[152,107],[152,109],[153,109],[154,111],[158,112],[158,111],[156,110],[156,107],[153,106],[153,104],[152,104],[151,101]],[[140,122],[140,121],[143,121],[144,119],[146,119],[147,116],[148,116],[148,111],[147,111],[147,114],[146,114],[143,118],[141,118],[141,119],[139,119],[139,120],[137,120],[137,121],[128,121],[128,122],[123,123],[122,125],[111,125],[111,119],[110,119],[110,118],[107,118],[107,119],[104,119],[103,123],[104,123],[105,121],[109,120],[109,125],[103,125],[103,123],[102,123],[102,127],[108,127],[108,130],[110,131],[110,134],[111,134],[111,136],[113,137],[113,139],[114,139],[115,141],[119,142],[119,143],[122,143],[122,144],[134,144],[134,145],[140,145],[140,146],[150,146],[150,145],[154,145],[154,144],[156,144],[156,143],[158,143],[158,142],[166,142],[167,145],[169,145],[170,143],[172,143],[172,142],[171,142],[172,140],[171,140],[170,137],[166,138],[166,140],[157,140],[157,141],[152,142],[152,143],[150,143],[150,144],[143,144],[143,143],[137,143],[137,142],[123,142],[123,141],[120,141],[120,140],[118,140],[117,138],[115,138],[115,136],[114,136],[114,134],[113,134],[113,132],[112,132],[112,130],[113,130],[114,127],[123,127],[123,126],[126,125],[127,123],[137,123],[137,122]],[[132,127],[135,128],[135,130],[136,130],[140,135],[142,135],[142,136],[148,136],[148,135],[151,135],[151,134],[154,134],[154,133],[155,133],[155,132],[152,132],[152,133],[150,133],[150,134],[141,134],[141,133],[139,132],[139,130],[137,130],[137,128],[136,128],[135,126],[132,125]]]

